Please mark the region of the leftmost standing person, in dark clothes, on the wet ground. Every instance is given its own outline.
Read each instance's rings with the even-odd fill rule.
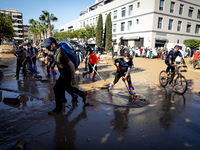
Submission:
[[[22,72],[24,74],[24,78],[26,78],[26,51],[23,46],[19,47],[19,50],[14,51],[14,55],[17,57],[17,68],[16,68],[16,77],[19,77],[20,68],[23,67]]]

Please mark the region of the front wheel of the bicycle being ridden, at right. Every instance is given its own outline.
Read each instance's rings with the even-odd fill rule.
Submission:
[[[176,93],[184,94],[188,88],[187,80],[184,76],[180,75],[180,77],[176,77],[174,80],[174,89]]]

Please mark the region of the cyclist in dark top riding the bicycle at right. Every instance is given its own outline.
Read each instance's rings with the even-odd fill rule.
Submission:
[[[183,62],[183,64],[185,65],[185,61],[183,59],[183,56],[181,54],[181,52],[179,51],[179,45],[176,45],[174,47],[173,50],[171,50],[166,59],[165,59],[165,64],[167,65],[167,69],[166,69],[166,73],[169,72],[169,70],[171,69],[172,74],[174,75],[175,73],[175,67],[174,67],[174,61],[176,60],[177,57],[180,57],[181,61]]]

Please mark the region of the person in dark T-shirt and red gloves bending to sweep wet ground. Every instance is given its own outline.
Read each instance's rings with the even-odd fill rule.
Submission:
[[[109,90],[112,90],[113,86],[122,77],[122,80],[124,81],[124,83],[126,80],[128,82],[130,98],[134,99],[135,93],[133,92],[134,88],[132,86],[131,76],[130,76],[133,62],[132,62],[132,59],[130,59],[130,54],[124,53],[124,58],[115,59],[113,63],[117,67],[117,72],[116,72],[114,81],[109,84]],[[126,85],[126,83],[125,83],[125,85]],[[128,89],[128,87],[127,87],[127,89]]]

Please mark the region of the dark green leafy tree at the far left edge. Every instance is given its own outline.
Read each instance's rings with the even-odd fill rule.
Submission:
[[[3,39],[13,39],[15,30],[13,29],[14,20],[10,15],[0,13],[0,44]]]

